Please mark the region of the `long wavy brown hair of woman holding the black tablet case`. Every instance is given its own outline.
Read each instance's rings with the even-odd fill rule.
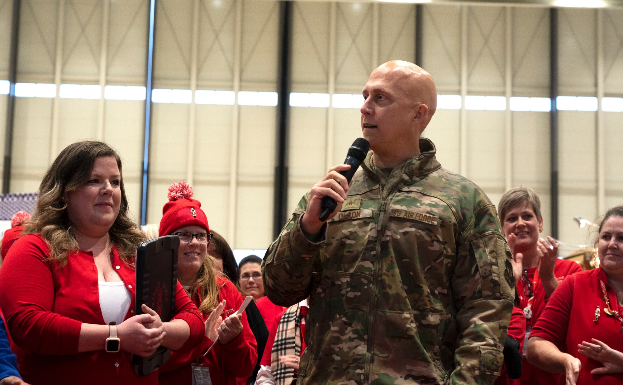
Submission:
[[[108,230],[110,242],[117,247],[119,257],[131,265],[136,247],[145,235],[129,214],[125,196],[121,158],[117,151],[101,141],[78,141],[60,151],[39,185],[39,199],[31,220],[26,224],[26,234],[41,234],[50,247],[49,259],[64,267],[67,255],[78,250],[74,225],[67,217],[65,194],[76,191],[85,184],[93,171],[95,159],[112,157],[117,161],[121,176],[121,207],[113,226]]]

